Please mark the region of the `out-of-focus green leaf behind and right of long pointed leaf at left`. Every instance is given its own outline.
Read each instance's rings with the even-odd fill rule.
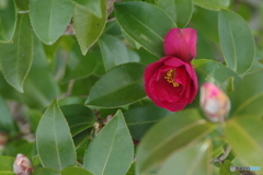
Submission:
[[[42,43],[36,37],[33,57],[30,73],[24,82],[24,93],[20,98],[30,107],[44,109],[59,95],[59,88],[48,68]]]

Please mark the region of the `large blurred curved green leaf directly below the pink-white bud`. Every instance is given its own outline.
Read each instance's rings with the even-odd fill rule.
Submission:
[[[142,138],[136,154],[136,172],[144,174],[155,170],[171,153],[202,139],[211,129],[214,125],[203,119],[196,109],[182,110],[163,118]]]

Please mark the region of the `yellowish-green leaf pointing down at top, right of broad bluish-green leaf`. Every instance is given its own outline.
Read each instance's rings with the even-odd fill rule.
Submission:
[[[89,48],[99,39],[106,24],[106,1],[100,0],[100,2],[102,7],[101,18],[98,18],[89,10],[78,4],[75,7],[73,25],[83,55],[85,55]]]

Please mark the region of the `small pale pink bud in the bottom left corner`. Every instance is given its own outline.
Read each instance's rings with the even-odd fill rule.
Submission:
[[[14,160],[13,172],[16,175],[31,175],[33,172],[31,161],[25,155],[18,154]]]

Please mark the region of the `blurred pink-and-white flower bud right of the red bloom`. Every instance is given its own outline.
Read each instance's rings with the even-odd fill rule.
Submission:
[[[215,84],[205,83],[201,88],[201,107],[209,120],[224,121],[230,110],[230,101]]]

